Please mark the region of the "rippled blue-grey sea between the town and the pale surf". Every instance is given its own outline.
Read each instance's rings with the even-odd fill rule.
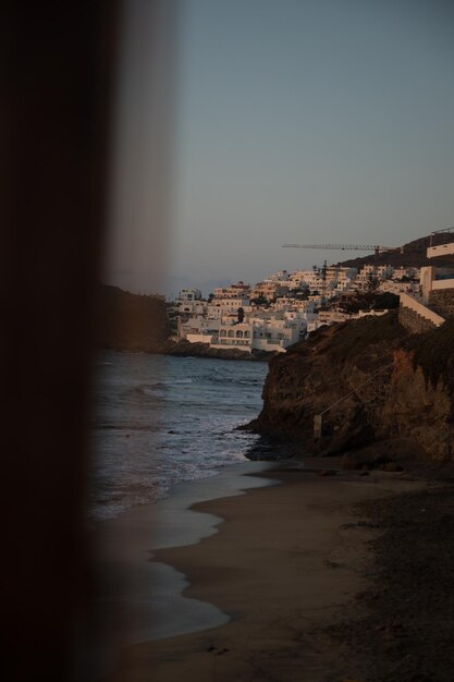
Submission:
[[[175,484],[244,461],[266,363],[106,351],[96,361],[90,516],[112,519]]]

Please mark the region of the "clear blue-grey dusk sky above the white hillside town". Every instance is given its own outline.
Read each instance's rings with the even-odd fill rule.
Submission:
[[[116,248],[111,280],[207,295],[353,255],[284,243],[398,246],[452,227],[453,20],[437,0],[181,0],[162,277],[145,248],[120,275]],[[147,210],[138,232],[159,222]]]

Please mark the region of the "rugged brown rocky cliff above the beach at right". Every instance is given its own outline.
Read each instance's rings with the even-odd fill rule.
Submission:
[[[302,454],[401,439],[450,459],[453,341],[454,322],[409,337],[395,312],[322,327],[270,362],[263,410],[249,427],[297,443]],[[314,417],[324,411],[315,437]]]

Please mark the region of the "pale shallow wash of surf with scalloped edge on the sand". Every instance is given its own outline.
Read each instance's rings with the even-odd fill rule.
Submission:
[[[185,574],[156,555],[167,548],[193,547],[216,535],[223,519],[193,507],[274,485],[277,482],[266,476],[268,466],[268,462],[230,464],[216,476],[180,482],[156,503],[138,506],[94,524],[100,633],[97,646],[102,670],[112,668],[123,646],[229,621],[214,605],[183,597]]]

